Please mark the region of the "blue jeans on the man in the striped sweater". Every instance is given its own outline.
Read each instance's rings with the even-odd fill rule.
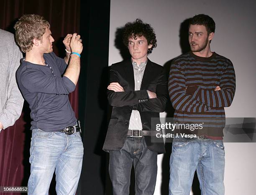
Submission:
[[[189,195],[195,170],[202,195],[224,195],[224,168],[222,140],[174,138],[169,195]]]

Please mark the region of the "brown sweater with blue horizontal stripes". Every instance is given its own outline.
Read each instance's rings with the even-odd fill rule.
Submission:
[[[221,90],[214,91],[216,86]],[[230,60],[215,52],[210,57],[191,51],[180,55],[172,61],[168,90],[176,122],[202,123],[197,134],[223,136],[224,107],[231,105],[236,90]]]

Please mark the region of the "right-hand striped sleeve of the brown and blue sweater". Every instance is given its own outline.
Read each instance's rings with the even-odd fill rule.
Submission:
[[[200,87],[195,98],[210,107],[229,107],[236,91],[236,75],[232,62],[228,61],[220,78],[221,90],[206,90]]]

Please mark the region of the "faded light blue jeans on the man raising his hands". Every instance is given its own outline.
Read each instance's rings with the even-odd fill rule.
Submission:
[[[51,179],[56,174],[56,193],[76,193],[82,169],[84,148],[80,133],[32,130],[28,195],[48,195]]]

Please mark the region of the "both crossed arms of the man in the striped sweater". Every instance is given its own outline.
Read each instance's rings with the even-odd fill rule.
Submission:
[[[209,110],[210,107],[228,107],[236,90],[233,65],[231,62],[227,65],[220,78],[220,86],[216,86],[214,90],[208,90],[201,86],[187,87],[184,70],[180,65],[172,64],[168,90],[176,110],[202,112]]]

